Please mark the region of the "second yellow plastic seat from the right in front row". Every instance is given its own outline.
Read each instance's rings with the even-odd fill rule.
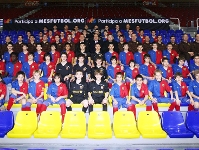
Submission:
[[[114,114],[113,131],[116,138],[139,138],[133,112],[117,111]]]

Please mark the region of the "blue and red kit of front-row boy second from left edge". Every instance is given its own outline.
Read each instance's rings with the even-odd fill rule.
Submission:
[[[27,82],[23,82],[23,84],[20,86],[18,80],[15,80],[12,82],[12,88],[15,89],[16,91],[20,91],[23,92],[24,94],[28,94],[28,83]],[[14,104],[14,100],[19,98],[20,96],[22,96],[21,94],[11,94],[10,98],[8,100],[8,106],[7,106],[7,110],[10,110],[12,105]],[[19,101],[16,102],[16,104],[19,104]],[[22,111],[26,110],[26,104],[22,105]]]

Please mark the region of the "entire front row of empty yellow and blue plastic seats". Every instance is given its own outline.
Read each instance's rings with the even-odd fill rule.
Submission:
[[[136,122],[132,112],[118,111],[114,115],[113,132],[116,138],[199,138],[199,112],[187,112],[184,122],[181,112],[163,112],[160,123],[154,111],[142,111]],[[33,111],[19,111],[14,124],[12,111],[0,112],[0,137],[8,138],[84,138],[86,118],[83,112],[67,112],[62,127],[61,116],[56,111],[46,111],[40,116]],[[88,121],[88,138],[112,138],[108,112],[91,112]]]

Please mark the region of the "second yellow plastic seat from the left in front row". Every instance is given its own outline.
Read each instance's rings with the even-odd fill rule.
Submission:
[[[41,114],[35,138],[57,138],[61,131],[60,112],[44,111]]]

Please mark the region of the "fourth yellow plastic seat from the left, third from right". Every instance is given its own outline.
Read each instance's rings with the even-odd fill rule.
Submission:
[[[111,121],[108,112],[91,112],[88,120],[88,138],[112,138]]]

